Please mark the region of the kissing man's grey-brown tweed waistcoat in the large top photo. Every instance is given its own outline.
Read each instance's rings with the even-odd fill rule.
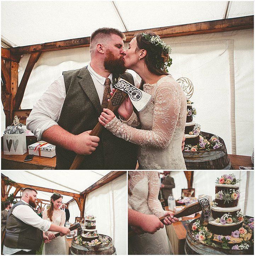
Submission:
[[[92,130],[98,123],[102,112],[100,100],[87,67],[63,72],[66,98],[58,124],[72,134]],[[119,75],[113,74],[113,80]],[[134,84],[129,73],[121,77]],[[118,117],[118,112],[115,112]],[[135,169],[137,145],[117,138],[103,128],[99,135],[100,142],[91,155],[86,155],[80,169]],[[69,169],[76,154],[56,146],[56,169]]]

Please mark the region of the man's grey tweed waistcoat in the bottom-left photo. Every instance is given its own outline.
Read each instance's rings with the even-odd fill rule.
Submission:
[[[13,209],[18,205],[27,205],[22,201],[11,207],[6,221],[6,234],[4,245],[10,248],[30,249],[39,251],[42,243],[42,231],[21,221],[12,214]],[[33,209],[34,211],[34,209]]]

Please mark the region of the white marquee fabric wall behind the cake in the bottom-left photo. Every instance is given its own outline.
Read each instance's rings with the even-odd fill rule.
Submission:
[[[106,185],[90,192],[85,203],[85,215],[96,216],[99,234],[113,239],[117,254],[125,255],[127,238],[127,188],[126,175],[122,175]],[[80,216],[76,202],[69,204],[70,221]]]

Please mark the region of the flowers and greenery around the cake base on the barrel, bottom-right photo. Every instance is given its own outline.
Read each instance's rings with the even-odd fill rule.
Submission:
[[[248,238],[245,238],[247,233],[254,235],[254,218],[244,218],[243,227],[232,232],[231,236],[233,238],[242,239],[242,241],[236,245],[229,244],[231,236],[216,235],[206,230],[204,226],[200,226],[199,219],[192,224],[192,232],[193,237],[202,244],[220,247],[222,249],[247,250],[254,244],[253,239],[249,241]],[[217,244],[215,240],[220,241],[220,244]]]

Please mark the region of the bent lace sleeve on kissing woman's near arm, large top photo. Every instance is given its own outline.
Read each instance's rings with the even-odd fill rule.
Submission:
[[[152,130],[140,130],[113,118],[105,128],[115,136],[138,145],[166,148],[175,130],[181,109],[180,92],[176,84],[162,82],[158,85],[154,98]]]

